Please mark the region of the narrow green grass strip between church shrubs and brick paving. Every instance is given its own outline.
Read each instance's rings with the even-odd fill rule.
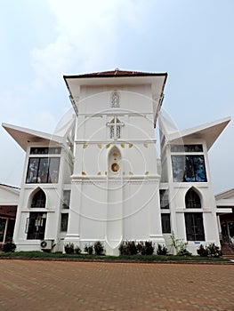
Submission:
[[[73,260],[102,260],[102,261],[144,261],[144,262],[166,262],[166,261],[230,261],[222,258],[207,258],[200,256],[162,256],[162,255],[122,255],[122,256],[98,256],[88,254],[63,254],[61,252],[45,252],[45,251],[15,251],[1,252],[0,259],[73,259]]]

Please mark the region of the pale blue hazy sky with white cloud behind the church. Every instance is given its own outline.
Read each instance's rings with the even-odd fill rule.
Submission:
[[[0,121],[53,132],[70,108],[63,75],[167,72],[180,130],[234,116],[233,0],[0,0]],[[234,125],[209,152],[214,192],[234,187]],[[0,182],[20,186],[24,152],[0,129]]]

